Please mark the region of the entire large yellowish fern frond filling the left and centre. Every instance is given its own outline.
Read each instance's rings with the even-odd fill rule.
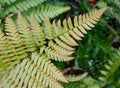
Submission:
[[[106,10],[102,8],[85,15],[39,25],[34,15],[29,23],[18,14],[17,22],[9,15],[5,32],[0,30],[0,88],[63,88],[59,81],[67,82],[51,63],[70,61],[76,40],[91,30]],[[62,25],[63,26],[62,26]]]

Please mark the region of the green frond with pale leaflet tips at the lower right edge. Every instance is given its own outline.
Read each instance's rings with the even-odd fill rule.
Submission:
[[[114,73],[120,67],[120,49],[116,54],[113,55],[114,60],[108,60],[108,64],[105,64],[105,69],[101,70],[102,76],[99,79],[103,82],[110,81],[110,78],[114,75]]]

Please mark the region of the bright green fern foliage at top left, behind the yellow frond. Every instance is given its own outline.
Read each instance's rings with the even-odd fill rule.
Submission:
[[[45,1],[47,0],[3,0],[0,2],[2,8],[0,11],[0,17],[4,18],[9,13],[17,14],[18,11],[21,11],[29,20],[29,15],[33,12],[37,21],[42,22],[45,16],[54,18],[70,9],[68,6],[42,4]]]

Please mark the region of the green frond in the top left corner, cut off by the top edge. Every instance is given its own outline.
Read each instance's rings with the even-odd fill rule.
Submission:
[[[46,0],[34,0],[34,1],[33,0],[24,0],[24,1],[8,0],[8,1],[3,1],[3,2],[9,4],[9,8],[8,7],[6,8],[3,5],[3,8],[5,9],[5,11],[2,12],[3,17],[8,15],[10,12],[18,13],[19,10],[27,11],[30,8],[38,6],[40,3],[44,2],[44,1],[46,1]]]

